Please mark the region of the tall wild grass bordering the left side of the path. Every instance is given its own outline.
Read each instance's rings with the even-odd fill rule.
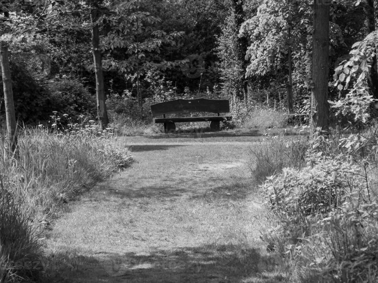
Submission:
[[[0,160],[0,282],[33,281],[43,275],[39,240],[61,203],[88,190],[131,162],[104,138],[19,133],[17,157],[2,142]]]

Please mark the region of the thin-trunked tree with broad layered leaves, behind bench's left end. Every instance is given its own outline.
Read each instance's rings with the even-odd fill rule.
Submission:
[[[182,37],[184,33],[167,33],[157,29],[156,25],[161,19],[143,11],[139,6],[139,0],[117,3],[113,11],[115,14],[104,21],[104,28],[108,30],[101,43],[102,51],[107,54],[104,68],[107,71],[133,75],[138,105],[142,112],[140,78],[147,69],[165,70],[185,63],[184,60],[160,60],[158,56],[164,45],[174,46],[175,39]]]

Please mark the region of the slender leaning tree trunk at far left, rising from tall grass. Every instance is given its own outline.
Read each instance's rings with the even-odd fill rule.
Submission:
[[[9,150],[17,154],[17,123],[14,111],[11,68],[9,67],[8,43],[0,43],[0,65],[3,76],[3,89],[6,114],[6,132],[8,135]]]

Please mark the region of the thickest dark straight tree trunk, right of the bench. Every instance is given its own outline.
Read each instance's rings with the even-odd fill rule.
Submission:
[[[314,0],[312,47],[311,132],[328,132],[328,54],[330,0]]]

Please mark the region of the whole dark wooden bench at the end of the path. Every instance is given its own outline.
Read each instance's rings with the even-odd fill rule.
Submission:
[[[209,121],[212,130],[220,128],[220,121],[231,121],[231,116],[220,116],[220,113],[230,112],[228,100],[211,100],[205,98],[176,99],[151,105],[152,117],[163,115],[163,118],[153,118],[153,123],[163,123],[165,133],[176,133],[175,123]],[[177,117],[166,118],[166,114],[187,114],[192,112],[217,113],[209,117]]]

